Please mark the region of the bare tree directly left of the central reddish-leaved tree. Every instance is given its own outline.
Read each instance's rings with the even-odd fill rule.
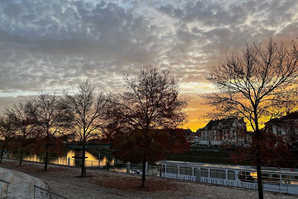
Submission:
[[[64,101],[68,111],[73,115],[74,135],[82,142],[82,172],[85,169],[85,144],[91,138],[99,138],[107,123],[107,113],[110,107],[111,93],[95,92],[95,87],[85,81],[78,86],[78,93],[70,95],[68,89],[63,89]]]

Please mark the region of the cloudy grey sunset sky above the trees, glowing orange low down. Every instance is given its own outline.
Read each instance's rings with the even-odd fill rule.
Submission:
[[[38,92],[75,90],[88,80],[122,92],[123,73],[169,68],[192,101],[186,127],[214,92],[202,72],[246,42],[298,37],[297,0],[0,0],[0,111]]]

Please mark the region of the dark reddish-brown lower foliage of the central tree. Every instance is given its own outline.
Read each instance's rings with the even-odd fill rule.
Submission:
[[[149,162],[163,160],[167,153],[189,150],[183,129],[152,129],[146,138],[140,129],[130,133],[117,131],[111,144],[116,157],[134,163],[142,162],[144,157]]]

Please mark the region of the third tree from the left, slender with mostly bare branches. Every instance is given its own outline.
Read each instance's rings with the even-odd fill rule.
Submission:
[[[41,92],[38,97],[31,98],[27,103],[29,104],[32,117],[40,127],[40,132],[45,138],[46,157],[44,170],[46,171],[51,145],[59,133],[67,131],[67,128],[70,126],[71,115],[67,112],[67,104],[56,93]]]

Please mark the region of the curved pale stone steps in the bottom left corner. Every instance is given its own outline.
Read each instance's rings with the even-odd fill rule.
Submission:
[[[45,188],[45,184],[42,180],[19,171],[0,168],[0,176],[0,179],[10,182],[7,192],[7,197],[9,199],[33,199],[34,185]],[[0,189],[2,190],[2,199],[3,197],[6,197],[7,184],[1,183]],[[47,199],[46,192],[41,189],[35,188],[35,199],[36,198]]]

